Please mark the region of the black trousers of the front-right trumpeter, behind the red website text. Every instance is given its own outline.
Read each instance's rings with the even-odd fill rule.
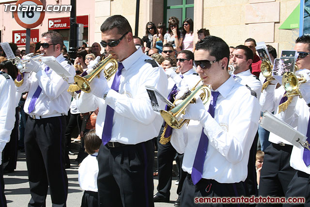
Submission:
[[[212,206],[212,207],[225,207],[225,206],[246,206],[245,204],[224,204],[224,203],[195,203],[196,197],[241,197],[246,194],[244,185],[242,182],[239,183],[219,183],[216,180],[211,179],[201,179],[196,185],[193,184],[191,175],[187,174],[186,179],[183,184],[182,197],[181,197],[181,207],[202,207],[202,206]]]

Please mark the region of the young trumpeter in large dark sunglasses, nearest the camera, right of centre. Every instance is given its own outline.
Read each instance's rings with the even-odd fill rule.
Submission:
[[[248,175],[248,156],[258,128],[259,101],[229,75],[229,47],[207,36],[194,52],[203,84],[212,86],[211,103],[197,98],[183,119],[189,125],[172,131],[171,143],[184,153],[181,207],[200,206],[195,197],[237,197],[245,194],[241,181]],[[182,104],[182,103],[181,103]],[[217,204],[217,206],[223,206]]]

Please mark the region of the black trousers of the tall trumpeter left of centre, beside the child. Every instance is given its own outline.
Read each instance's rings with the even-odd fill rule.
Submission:
[[[154,207],[152,140],[110,148],[101,145],[97,179],[100,207]]]

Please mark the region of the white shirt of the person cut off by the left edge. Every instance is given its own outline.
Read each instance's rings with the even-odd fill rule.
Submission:
[[[0,164],[1,152],[10,140],[15,123],[15,84],[12,78],[0,74]]]

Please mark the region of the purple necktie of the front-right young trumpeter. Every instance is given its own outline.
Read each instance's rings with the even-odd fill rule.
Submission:
[[[217,96],[219,95],[219,92],[212,91],[211,93],[212,93],[212,97],[211,97],[211,102],[210,102],[208,111],[210,115],[214,117],[214,111],[217,105]],[[199,144],[198,144],[198,148],[196,151],[196,156],[195,156],[194,164],[192,168],[192,174],[191,174],[194,185],[196,185],[202,179],[203,164],[204,164],[205,155],[207,154],[208,143],[209,143],[209,138],[207,137],[207,135],[205,135],[205,133],[203,132],[203,128],[202,128],[202,135],[199,140]]]

